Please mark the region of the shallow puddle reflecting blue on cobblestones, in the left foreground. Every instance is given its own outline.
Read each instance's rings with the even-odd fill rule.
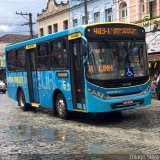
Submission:
[[[23,139],[43,139],[51,142],[69,141],[74,142],[77,136],[67,130],[58,130],[54,128],[32,128],[30,126],[9,126],[9,134],[16,140]]]

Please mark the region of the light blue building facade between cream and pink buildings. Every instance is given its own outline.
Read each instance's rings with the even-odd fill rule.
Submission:
[[[116,21],[115,3],[113,0],[87,1],[88,23]],[[85,24],[84,0],[70,1],[71,27]]]

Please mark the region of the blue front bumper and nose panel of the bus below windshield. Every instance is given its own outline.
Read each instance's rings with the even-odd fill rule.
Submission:
[[[144,85],[139,85],[139,86],[134,86],[130,88],[117,88],[117,89],[104,89],[100,88],[98,86],[92,85],[89,82],[86,81],[86,88],[85,88],[85,93],[86,93],[86,108],[87,112],[111,112],[111,111],[118,111],[118,110],[125,110],[125,109],[131,109],[131,108],[137,108],[141,106],[146,106],[151,104],[151,92],[150,90],[146,94],[139,94],[139,95],[133,95],[131,93],[133,92],[143,92],[144,90],[147,89],[149,86],[149,82],[144,84]],[[88,88],[96,90],[98,92],[107,94],[107,93],[126,93],[128,96],[121,96],[121,97],[115,97],[112,99],[102,99],[99,97],[96,97],[92,95],[89,91]],[[130,95],[129,95],[130,94]],[[116,104],[116,103],[123,103],[127,100],[144,100],[144,103],[141,105],[134,105],[134,106],[128,106],[128,107],[122,107],[122,108],[116,108],[113,109],[111,107],[111,104]]]

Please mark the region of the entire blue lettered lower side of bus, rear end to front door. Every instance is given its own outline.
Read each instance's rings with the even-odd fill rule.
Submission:
[[[57,72],[66,72],[68,77],[57,77]],[[9,97],[17,100],[17,88],[21,87],[25,94],[26,103],[31,103],[29,98],[27,73],[10,72],[7,77]],[[69,70],[37,71],[37,73],[34,71],[32,73],[32,78],[34,97],[35,100],[40,102],[41,106],[53,108],[53,94],[54,91],[58,89],[65,96],[68,110],[73,110]]]

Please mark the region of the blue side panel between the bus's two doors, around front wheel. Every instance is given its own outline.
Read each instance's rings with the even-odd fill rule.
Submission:
[[[67,78],[57,77],[57,73],[66,72]],[[73,110],[72,92],[69,70],[37,71],[40,105],[53,108],[53,95],[55,90],[61,91],[66,99],[68,110]],[[69,100],[68,100],[69,99]]]

